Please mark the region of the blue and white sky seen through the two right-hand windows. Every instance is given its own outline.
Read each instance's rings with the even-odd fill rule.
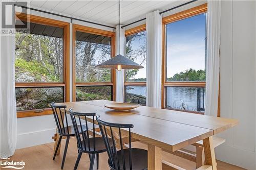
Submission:
[[[189,68],[205,69],[205,19],[200,14],[166,25],[167,78]],[[133,42],[133,50],[140,42]],[[146,78],[146,69],[139,69],[134,78]]]

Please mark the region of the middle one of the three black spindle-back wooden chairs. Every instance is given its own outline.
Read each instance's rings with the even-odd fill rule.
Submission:
[[[93,164],[95,160],[95,155],[97,157],[97,169],[99,168],[99,154],[106,152],[104,140],[102,137],[96,137],[95,136],[95,116],[96,113],[79,113],[79,112],[74,112],[72,108],[69,109],[72,124],[74,126],[75,134],[76,134],[76,139],[77,139],[77,148],[78,148],[78,156],[76,160],[76,164],[74,167],[74,170],[77,168],[79,161],[81,159],[82,153],[87,153],[91,154],[90,156],[90,170],[93,169]],[[90,116],[93,119],[93,134],[92,137],[90,138],[89,131],[87,133],[82,133],[80,135],[78,132],[83,131],[83,125],[81,118],[84,118],[86,127],[84,129],[90,129],[88,128],[88,121],[87,117]],[[77,117],[77,118],[76,118]],[[110,147],[113,147],[113,144],[110,143]]]

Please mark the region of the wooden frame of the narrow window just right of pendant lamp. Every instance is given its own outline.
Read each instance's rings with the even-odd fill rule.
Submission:
[[[135,33],[139,33],[139,32],[142,32],[142,31],[146,31],[146,24],[143,24],[143,25],[131,28],[129,30],[125,30],[124,36],[126,38],[126,36],[129,36],[129,35],[132,35],[132,34],[135,34]],[[126,48],[126,43],[125,43],[125,48]],[[126,54],[125,54],[125,56],[126,56]],[[125,101],[125,96],[126,96],[126,94],[125,94],[126,86],[142,86],[142,87],[146,87],[146,82],[127,82],[126,81],[126,70],[125,70],[124,71],[124,95],[123,95],[124,101]]]

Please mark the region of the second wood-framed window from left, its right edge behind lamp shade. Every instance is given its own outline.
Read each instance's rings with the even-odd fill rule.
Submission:
[[[114,71],[96,65],[114,56],[114,32],[73,25],[73,100],[114,100]]]

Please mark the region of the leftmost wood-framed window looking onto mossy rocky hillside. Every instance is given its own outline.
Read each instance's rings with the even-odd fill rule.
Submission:
[[[69,23],[29,17],[30,32],[15,35],[17,117],[51,114],[49,103],[69,101]]]

